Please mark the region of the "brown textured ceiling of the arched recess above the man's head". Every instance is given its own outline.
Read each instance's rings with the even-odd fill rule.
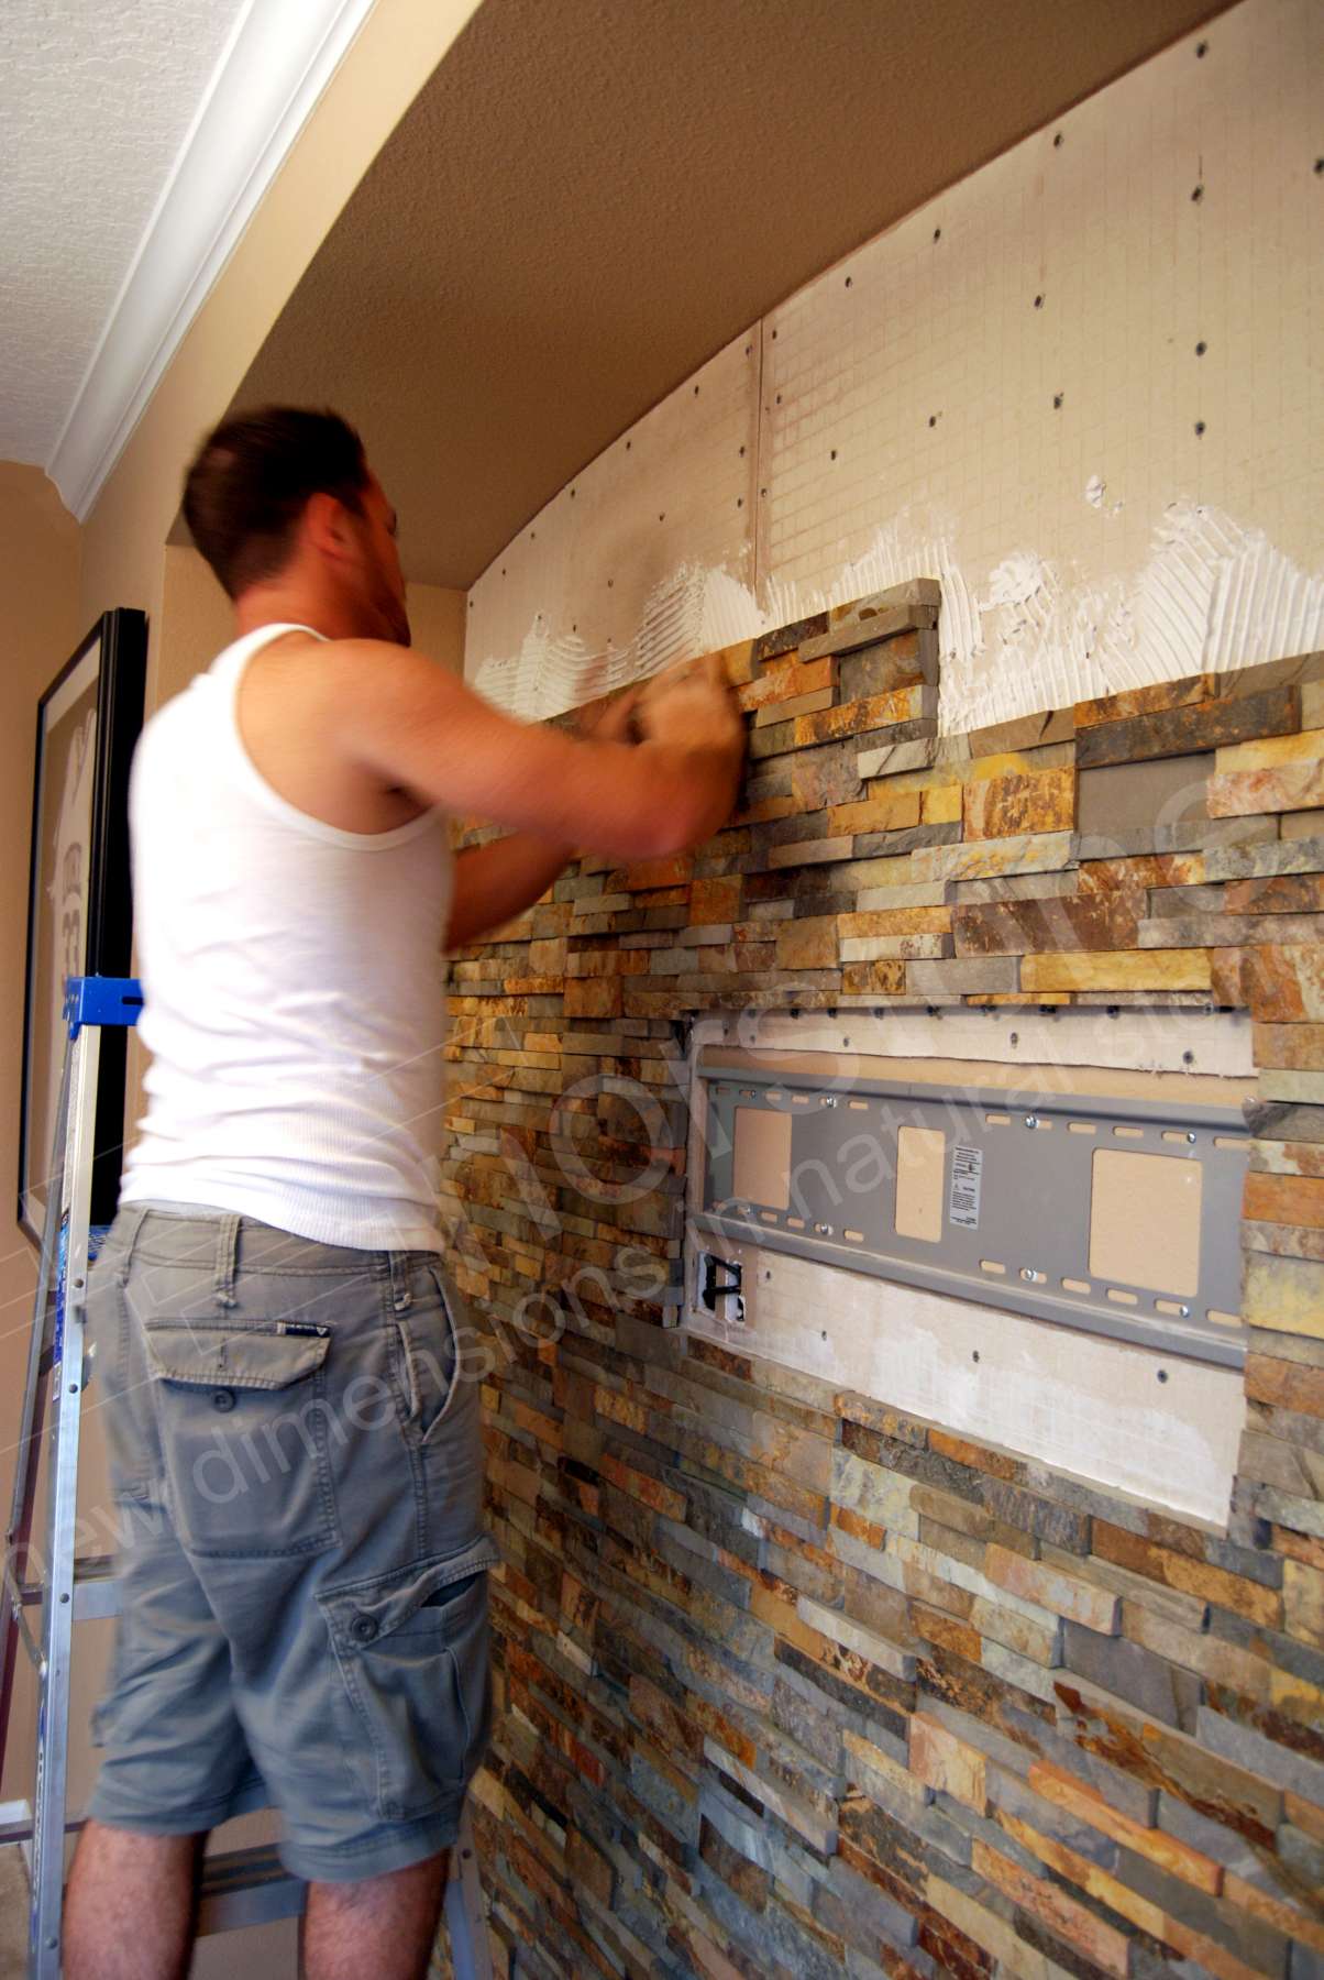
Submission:
[[[412,578],[467,586],[800,283],[1209,0],[485,0],[236,404],[354,418]]]

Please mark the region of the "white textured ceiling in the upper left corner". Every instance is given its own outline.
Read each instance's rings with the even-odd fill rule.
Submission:
[[[0,0],[0,459],[49,459],[239,12]]]

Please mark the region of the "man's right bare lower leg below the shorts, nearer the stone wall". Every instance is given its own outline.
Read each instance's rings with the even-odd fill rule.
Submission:
[[[303,1980],[426,1980],[451,1851],[360,1883],[311,1883]]]

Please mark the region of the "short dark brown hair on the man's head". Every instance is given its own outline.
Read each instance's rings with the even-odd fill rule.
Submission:
[[[311,495],[334,495],[362,515],[364,446],[338,412],[261,406],[208,434],[184,479],[184,521],[237,598],[285,566]]]

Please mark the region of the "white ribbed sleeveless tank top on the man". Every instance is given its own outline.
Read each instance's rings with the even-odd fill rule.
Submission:
[[[121,1202],[439,1251],[447,822],[340,832],[265,782],[237,689],[287,632],[313,628],[236,640],[139,741],[129,826],[152,1061]]]

